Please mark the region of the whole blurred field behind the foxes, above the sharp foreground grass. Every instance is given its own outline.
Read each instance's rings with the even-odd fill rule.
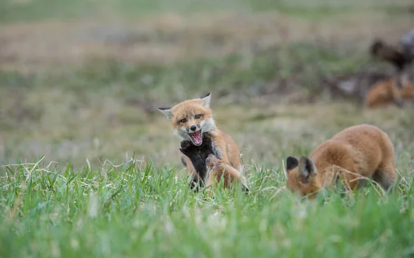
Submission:
[[[0,161],[128,155],[184,170],[157,108],[211,92],[246,166],[373,123],[408,168],[413,108],[364,110],[337,84],[393,75],[368,48],[413,28],[411,0],[1,0]]]

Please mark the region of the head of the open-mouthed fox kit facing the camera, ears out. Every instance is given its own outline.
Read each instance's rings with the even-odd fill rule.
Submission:
[[[208,93],[199,99],[183,101],[172,108],[159,108],[159,111],[166,115],[175,135],[200,146],[203,143],[203,133],[210,132],[215,126],[210,97]]]

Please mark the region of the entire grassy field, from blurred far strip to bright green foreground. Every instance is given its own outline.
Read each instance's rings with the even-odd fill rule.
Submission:
[[[413,257],[414,109],[364,110],[327,80],[393,69],[375,37],[411,1],[0,2],[0,257]],[[212,93],[251,194],[188,190],[157,111]],[[391,137],[384,195],[299,201],[284,160],[358,123]]]

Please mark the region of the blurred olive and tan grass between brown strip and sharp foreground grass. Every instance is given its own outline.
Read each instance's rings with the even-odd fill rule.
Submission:
[[[315,147],[327,134],[355,123],[400,130],[410,110],[365,114],[355,111],[353,103],[326,103],[329,90],[321,79],[357,71],[355,63],[368,59],[364,52],[346,54],[297,43],[250,58],[231,54],[172,65],[101,59],[66,70],[3,71],[1,161],[46,155],[46,161],[70,161],[79,167],[86,159],[120,163],[126,152],[135,152],[160,164],[178,164],[178,139],[170,135],[169,123],[157,108],[207,92],[213,94],[217,123],[246,150],[246,160],[275,165],[273,155],[280,159],[285,152],[303,149],[300,139],[306,135]],[[387,119],[393,123],[384,126]]]

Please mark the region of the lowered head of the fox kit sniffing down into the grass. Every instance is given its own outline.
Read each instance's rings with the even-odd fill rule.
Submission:
[[[312,159],[301,157],[298,161],[295,157],[288,157],[286,170],[288,188],[292,192],[297,192],[302,197],[308,195],[309,199],[315,199],[315,194],[322,190],[323,186],[317,178],[317,169]]]

